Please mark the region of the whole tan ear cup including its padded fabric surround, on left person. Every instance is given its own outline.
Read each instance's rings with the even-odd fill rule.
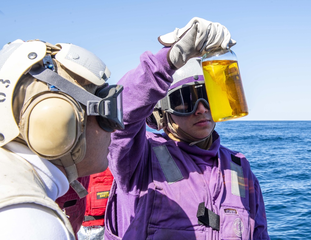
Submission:
[[[21,111],[20,133],[29,148],[57,165],[83,132],[81,106],[63,92],[44,91],[31,97]],[[78,151],[83,154],[84,151]],[[76,156],[77,162],[83,156]],[[77,163],[76,161],[74,161]]]

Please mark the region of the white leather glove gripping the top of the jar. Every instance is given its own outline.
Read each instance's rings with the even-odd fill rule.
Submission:
[[[172,46],[167,60],[172,68],[181,68],[193,57],[201,57],[216,48],[229,49],[236,44],[225,26],[194,17],[186,26],[158,37],[164,46]]]

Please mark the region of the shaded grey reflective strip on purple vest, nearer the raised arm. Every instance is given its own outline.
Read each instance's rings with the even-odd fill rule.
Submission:
[[[181,174],[179,168],[176,165],[176,162],[173,160],[169,150],[165,145],[154,147],[153,151],[156,153],[156,157],[160,162],[162,171],[168,184],[172,184],[183,179],[183,175]]]

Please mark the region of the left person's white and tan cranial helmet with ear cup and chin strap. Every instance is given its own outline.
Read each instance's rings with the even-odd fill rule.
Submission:
[[[45,77],[44,69],[49,69]],[[64,166],[69,183],[85,195],[75,164],[85,155],[86,112],[96,115],[90,102],[100,100],[93,94],[109,77],[98,57],[73,44],[16,40],[5,45],[0,50],[0,147],[14,139],[26,142],[38,156]]]

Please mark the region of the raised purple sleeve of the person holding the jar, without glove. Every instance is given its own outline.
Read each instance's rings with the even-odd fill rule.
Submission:
[[[136,184],[148,157],[146,117],[152,113],[171,84],[174,70],[169,67],[166,54],[169,48],[157,54],[145,52],[137,68],[126,73],[118,84],[123,85],[124,130],[111,135],[109,168],[118,189],[137,194]],[[132,185],[132,186],[131,186]]]

